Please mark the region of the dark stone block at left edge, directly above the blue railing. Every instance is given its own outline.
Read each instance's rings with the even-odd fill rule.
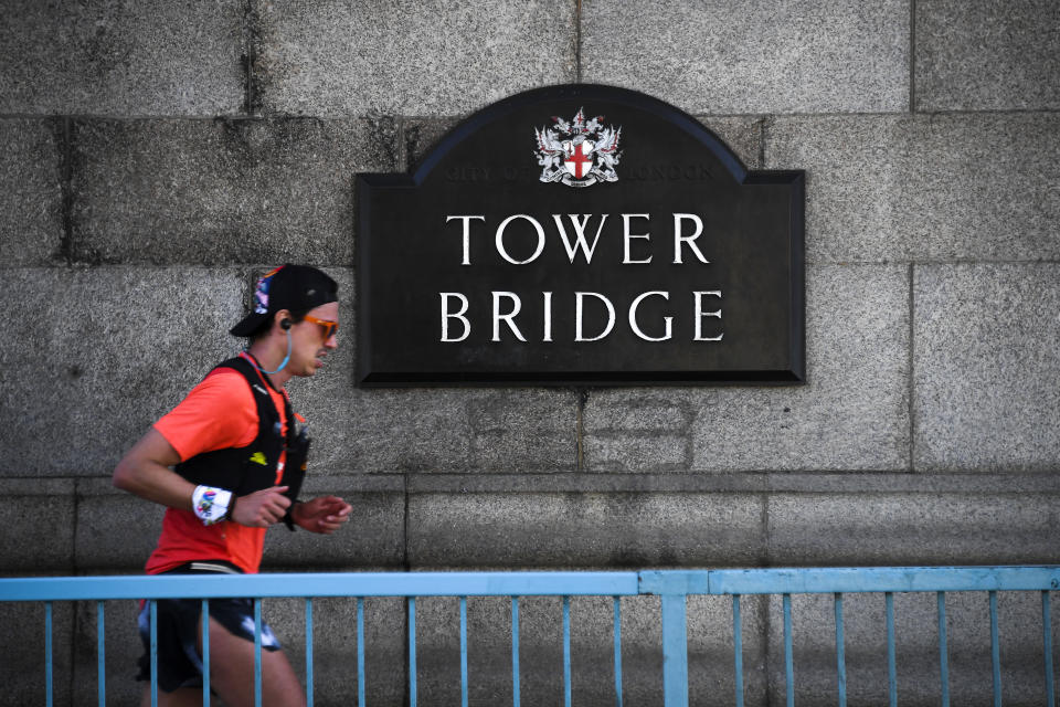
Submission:
[[[70,519],[74,507],[71,481],[0,479],[0,525],[4,528],[0,571],[73,572],[74,524]]]

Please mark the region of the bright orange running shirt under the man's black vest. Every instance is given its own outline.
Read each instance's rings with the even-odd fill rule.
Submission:
[[[262,386],[279,411],[286,435],[286,392],[273,390],[264,377]],[[155,429],[177,450],[180,461],[186,462],[204,452],[248,445],[257,437],[257,405],[246,379],[239,371],[221,368],[192,388],[179,405],[155,423]],[[283,478],[284,460],[282,454],[276,469],[277,484]],[[167,508],[158,547],[147,561],[147,573],[157,574],[193,560],[226,560],[244,572],[257,572],[265,530],[229,520],[204,526],[190,509]]]

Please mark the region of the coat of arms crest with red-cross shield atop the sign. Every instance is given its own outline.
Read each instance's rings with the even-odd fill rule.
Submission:
[[[584,108],[570,122],[553,116],[552,127],[534,129],[538,138],[538,165],[541,181],[561,182],[568,187],[591,187],[601,181],[616,181],[615,165],[622,157],[618,138],[622,126],[604,127],[604,116],[585,120]]]

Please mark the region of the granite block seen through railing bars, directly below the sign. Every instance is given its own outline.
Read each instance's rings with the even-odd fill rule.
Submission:
[[[623,597],[621,610],[622,692],[627,704],[662,705],[659,601]],[[760,598],[742,602],[749,705],[764,704],[765,654]],[[610,597],[570,600],[572,704],[613,704],[614,601]],[[460,700],[460,616],[457,598],[416,600],[418,696],[430,704]],[[563,603],[559,597],[521,597],[519,612],[520,704],[551,705],[563,695]],[[469,705],[512,700],[512,602],[504,597],[467,600]],[[728,598],[692,597],[688,602],[689,694],[692,705],[732,704],[732,613]]]

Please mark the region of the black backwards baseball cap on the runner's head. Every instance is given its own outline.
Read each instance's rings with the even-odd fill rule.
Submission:
[[[258,278],[254,288],[254,312],[230,329],[232,336],[251,336],[280,309],[293,313],[338,299],[339,284],[309,265],[280,265]]]

